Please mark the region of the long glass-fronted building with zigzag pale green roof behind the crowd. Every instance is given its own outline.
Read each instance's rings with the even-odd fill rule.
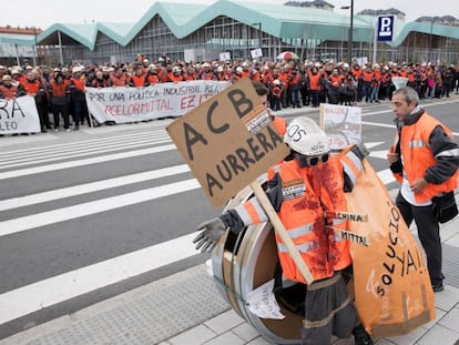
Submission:
[[[259,49],[259,60],[276,60],[289,50],[300,60],[347,61],[351,26],[353,58],[373,61],[376,20],[376,16],[356,14],[350,23],[350,16],[329,8],[261,8],[228,0],[208,6],[156,2],[134,24],[54,24],[27,42],[13,38],[7,42],[32,47],[32,54],[37,47],[37,62],[47,65],[119,64],[134,61],[139,53],[152,60],[165,53],[171,60],[186,62],[218,60],[222,53],[230,59],[253,60]],[[394,37],[389,43],[376,42],[376,61],[459,62],[459,27],[434,21],[406,23],[404,16],[396,16]],[[17,60],[33,58],[27,54]]]

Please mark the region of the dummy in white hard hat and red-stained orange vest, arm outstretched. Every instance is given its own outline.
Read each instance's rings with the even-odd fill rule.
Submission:
[[[292,160],[268,170],[266,194],[317,282],[305,286],[302,344],[330,344],[333,334],[347,338],[353,333],[355,344],[370,345],[373,339],[350,302],[344,278],[343,270],[351,265],[349,243],[335,233],[347,223],[332,215],[347,209],[340,160],[329,154],[327,135],[309,118],[292,120],[284,141],[292,150]],[[252,197],[198,225],[193,242],[197,250],[208,252],[227,229],[238,234],[245,226],[266,221],[258,200]],[[275,239],[284,277],[306,284],[280,236],[276,234]]]

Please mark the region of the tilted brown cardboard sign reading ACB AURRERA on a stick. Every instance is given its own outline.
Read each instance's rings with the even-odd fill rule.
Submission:
[[[215,207],[289,152],[248,78],[166,130]]]

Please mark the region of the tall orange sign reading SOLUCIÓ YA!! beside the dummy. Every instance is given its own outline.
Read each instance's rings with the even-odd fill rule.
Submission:
[[[435,297],[418,245],[400,211],[367,160],[351,193],[348,211],[369,222],[349,222],[355,303],[365,328],[375,337],[398,336],[435,319]],[[367,244],[367,245],[366,245]]]

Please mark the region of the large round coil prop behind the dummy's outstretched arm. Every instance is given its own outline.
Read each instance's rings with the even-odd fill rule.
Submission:
[[[264,181],[261,181],[264,180]],[[258,182],[263,184],[265,176]],[[225,207],[233,209],[253,196],[242,190]],[[233,310],[273,344],[299,344],[305,315],[304,284],[282,280],[276,240],[271,223],[247,226],[238,235],[227,231],[212,253],[216,286]],[[249,311],[247,296],[258,286],[275,280],[275,297],[283,319],[262,318]]]

